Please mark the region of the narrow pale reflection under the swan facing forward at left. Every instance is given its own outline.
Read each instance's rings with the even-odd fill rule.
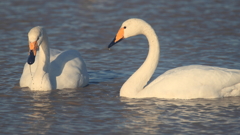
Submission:
[[[26,91],[33,99],[29,101],[29,110],[24,123],[29,124],[26,129],[29,134],[46,134],[54,122],[54,108],[49,99],[49,92]]]

